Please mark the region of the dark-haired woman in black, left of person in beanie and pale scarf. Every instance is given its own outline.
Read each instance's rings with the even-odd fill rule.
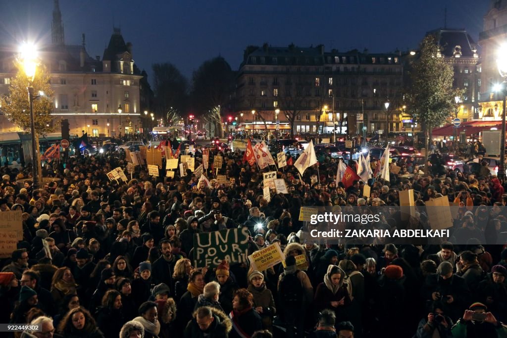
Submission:
[[[122,296],[116,290],[107,290],[102,297],[102,306],[95,313],[97,326],[105,338],[116,338],[125,323],[122,312]]]

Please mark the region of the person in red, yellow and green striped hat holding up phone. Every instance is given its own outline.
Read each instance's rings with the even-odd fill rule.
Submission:
[[[488,307],[482,303],[470,305],[452,328],[452,335],[457,338],[507,336],[507,326],[487,311]]]

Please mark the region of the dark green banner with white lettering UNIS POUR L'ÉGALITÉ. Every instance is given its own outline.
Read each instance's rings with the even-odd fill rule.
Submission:
[[[218,267],[222,260],[229,264],[245,263],[248,258],[248,228],[227,229],[194,235],[194,267]]]

